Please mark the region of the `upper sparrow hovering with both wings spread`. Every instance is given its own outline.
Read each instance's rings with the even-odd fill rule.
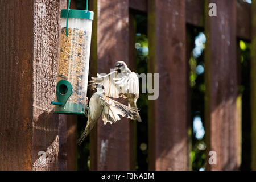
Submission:
[[[92,77],[90,82],[98,82],[105,86],[106,96],[127,98],[129,106],[137,109],[137,99],[139,98],[139,79],[136,73],[131,72],[124,61],[117,61],[114,65],[115,71],[108,75]],[[137,115],[131,117],[133,120],[141,122],[141,117],[137,109]]]

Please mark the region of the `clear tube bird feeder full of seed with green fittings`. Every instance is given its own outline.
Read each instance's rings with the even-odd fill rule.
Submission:
[[[61,10],[60,55],[54,113],[85,114],[93,12]]]

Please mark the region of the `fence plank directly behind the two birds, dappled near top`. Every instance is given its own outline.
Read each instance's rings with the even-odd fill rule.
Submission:
[[[95,14],[92,56],[90,63],[97,60],[97,67],[91,70],[109,73],[115,61],[129,60],[129,7],[128,0],[94,0],[92,10]],[[97,29],[95,29],[97,28]],[[96,37],[95,37],[96,36]],[[91,75],[96,76],[96,75]],[[121,119],[113,125],[98,121],[97,132],[91,134],[91,169],[129,170],[131,168],[130,121]],[[96,134],[97,133],[97,134]],[[96,139],[97,138],[97,139]]]

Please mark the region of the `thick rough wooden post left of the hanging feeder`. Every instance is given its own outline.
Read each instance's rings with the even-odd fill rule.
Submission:
[[[0,1],[1,170],[58,169],[59,115],[51,101],[64,3]]]

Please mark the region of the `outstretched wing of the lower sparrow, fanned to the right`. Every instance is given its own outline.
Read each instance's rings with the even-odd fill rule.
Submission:
[[[100,98],[100,102],[104,106],[102,111],[102,120],[104,125],[108,122],[112,124],[113,122],[115,123],[120,120],[121,118],[119,115],[129,118],[137,114],[137,110],[135,108],[123,105],[108,97]]]

